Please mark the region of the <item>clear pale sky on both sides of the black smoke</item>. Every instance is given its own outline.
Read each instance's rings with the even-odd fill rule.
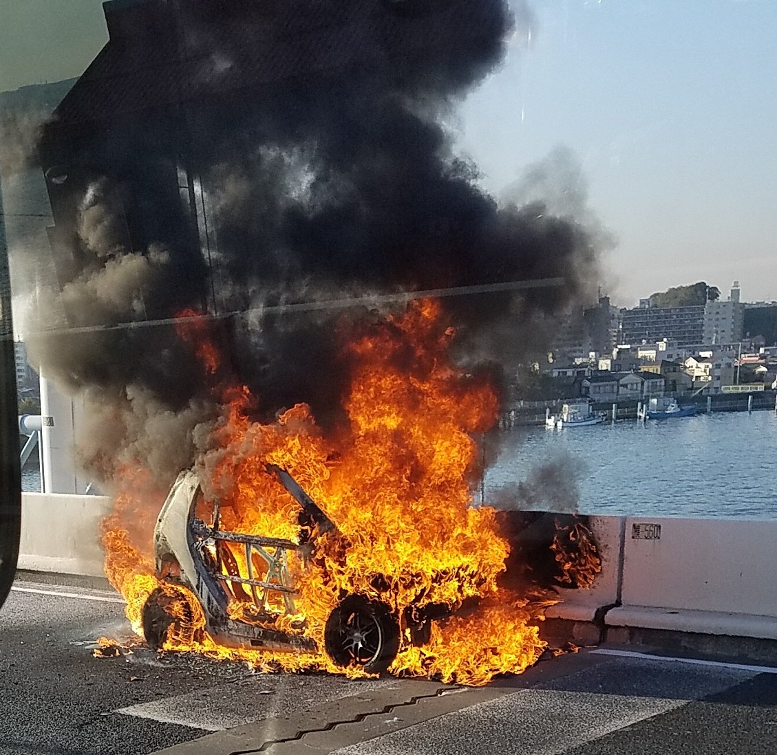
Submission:
[[[777,299],[777,2],[528,5],[531,40],[456,122],[484,185],[570,147],[617,303],[702,279]],[[97,0],[0,0],[0,90],[77,76],[105,40]]]

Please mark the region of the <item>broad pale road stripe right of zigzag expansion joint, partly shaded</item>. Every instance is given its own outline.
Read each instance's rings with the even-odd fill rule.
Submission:
[[[650,656],[625,653],[622,659],[594,664],[495,700],[462,706],[458,712],[423,725],[341,747],[332,755],[417,755],[427,750],[457,755],[482,755],[491,750],[562,755],[722,692],[755,673],[758,667],[755,671],[728,666],[662,669]]]

